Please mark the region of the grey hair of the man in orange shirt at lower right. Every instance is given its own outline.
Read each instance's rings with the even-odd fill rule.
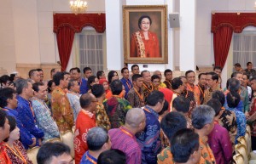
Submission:
[[[213,121],[215,111],[208,105],[200,105],[192,112],[192,125],[195,129],[201,129]]]

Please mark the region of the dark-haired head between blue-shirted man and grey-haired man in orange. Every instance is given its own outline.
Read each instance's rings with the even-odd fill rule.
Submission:
[[[182,114],[177,111],[172,111],[164,116],[160,122],[160,127],[171,142],[173,135],[177,133],[178,130],[187,127],[187,120]]]

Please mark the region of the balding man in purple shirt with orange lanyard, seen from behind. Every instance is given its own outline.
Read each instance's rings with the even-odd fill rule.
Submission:
[[[143,110],[133,108],[127,112],[124,126],[109,131],[112,149],[122,150],[128,164],[137,164],[142,161],[142,151],[137,144],[135,134],[143,131],[145,122],[146,116]]]

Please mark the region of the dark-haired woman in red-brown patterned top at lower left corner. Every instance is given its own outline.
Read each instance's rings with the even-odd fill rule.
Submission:
[[[26,150],[20,143],[20,129],[16,125],[15,117],[7,116],[9,120],[9,138],[5,139],[6,152],[13,164],[32,164],[26,155]]]

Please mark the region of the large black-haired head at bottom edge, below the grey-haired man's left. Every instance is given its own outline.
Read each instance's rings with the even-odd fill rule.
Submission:
[[[171,142],[173,161],[177,163],[199,163],[201,150],[199,149],[199,135],[192,129],[184,128],[174,135]]]

